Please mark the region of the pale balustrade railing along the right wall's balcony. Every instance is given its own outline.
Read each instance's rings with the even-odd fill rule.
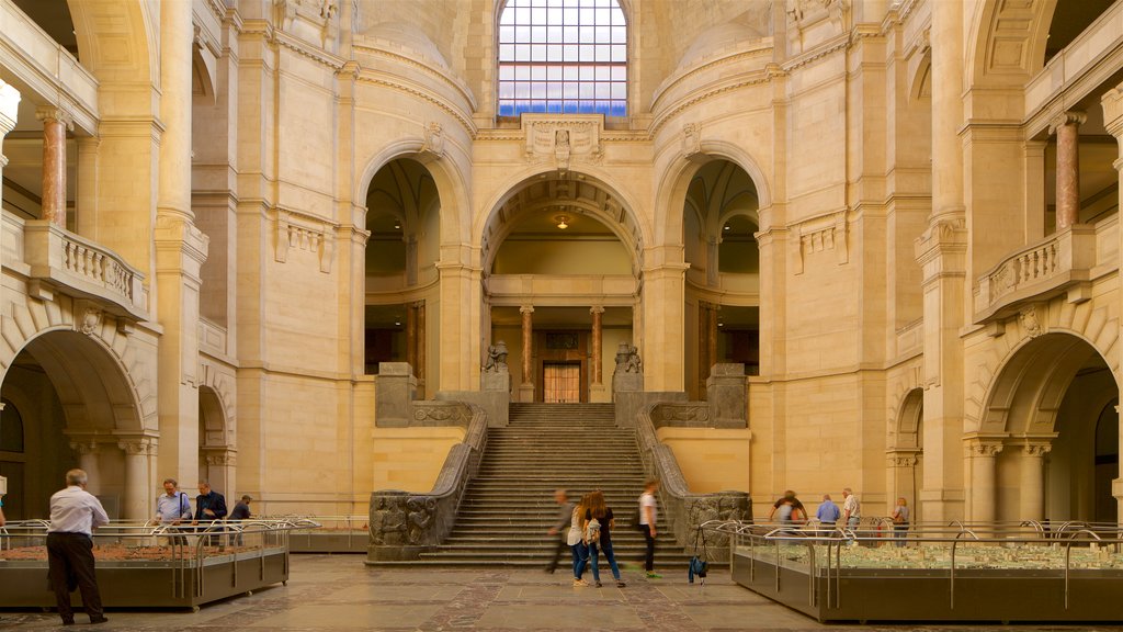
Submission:
[[[1049,298],[1087,282],[1097,263],[1096,231],[1096,226],[1071,226],[1013,253],[983,274],[975,286],[976,322],[1006,316],[1025,299]]]

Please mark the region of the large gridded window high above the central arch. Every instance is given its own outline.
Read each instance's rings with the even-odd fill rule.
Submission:
[[[628,26],[617,0],[508,0],[499,115],[628,112]]]

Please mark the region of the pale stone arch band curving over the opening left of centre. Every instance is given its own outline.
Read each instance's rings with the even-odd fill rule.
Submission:
[[[468,188],[464,174],[442,152],[433,152],[432,142],[414,136],[401,138],[385,145],[372,155],[365,163],[363,172],[355,180],[354,200],[365,208],[366,196],[376,173],[391,162],[399,159],[411,159],[421,163],[432,177],[440,198],[440,243],[467,243],[472,235],[472,222],[468,206],[463,200],[468,199]],[[363,219],[363,222],[359,222]],[[365,225],[365,218],[356,218],[356,223]]]

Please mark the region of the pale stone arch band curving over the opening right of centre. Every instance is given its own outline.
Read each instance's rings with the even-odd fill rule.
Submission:
[[[659,178],[656,193],[655,238],[657,243],[679,243],[683,235],[681,204],[687,197],[687,189],[702,166],[713,160],[727,160],[741,168],[752,180],[757,190],[757,226],[761,226],[763,215],[773,205],[772,188],[760,165],[749,152],[725,141],[702,141],[701,153],[687,159],[685,155],[672,161]],[[661,215],[660,215],[661,214]]]

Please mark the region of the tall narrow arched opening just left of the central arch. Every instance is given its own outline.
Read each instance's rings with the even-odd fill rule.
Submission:
[[[408,362],[418,396],[436,383],[436,324],[440,292],[440,196],[429,170],[398,159],[375,173],[367,189],[365,367]]]

